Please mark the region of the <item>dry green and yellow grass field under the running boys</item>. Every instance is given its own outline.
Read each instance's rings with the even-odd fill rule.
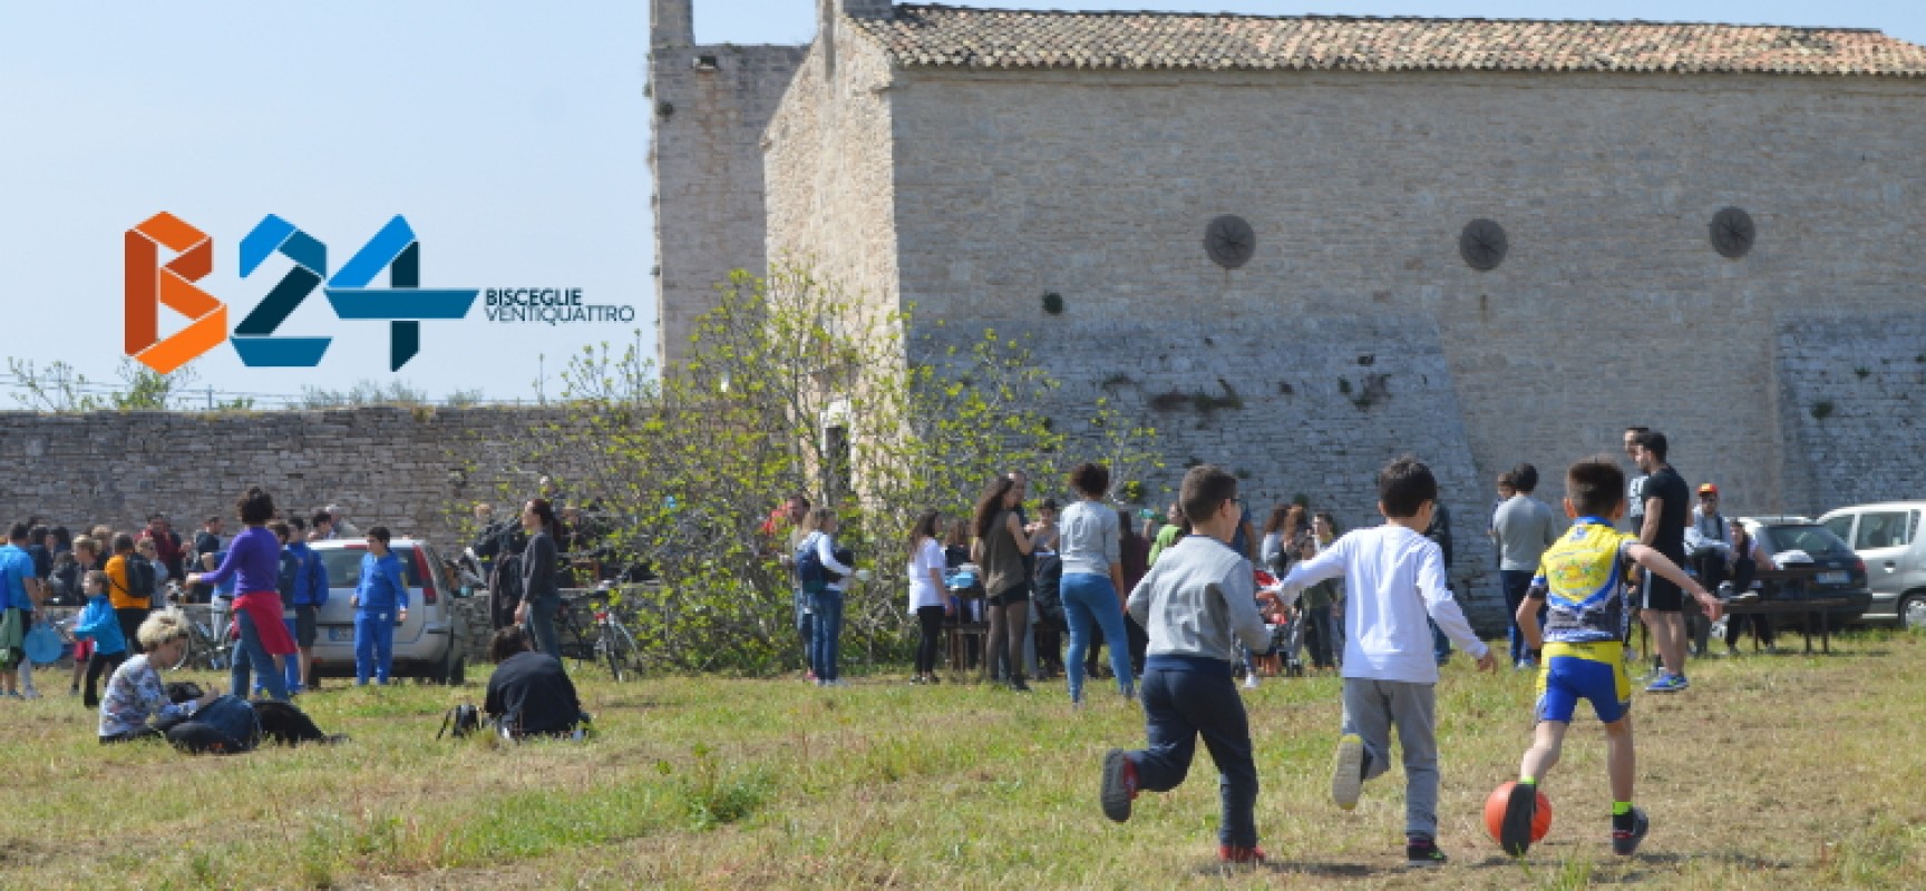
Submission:
[[[1531,677],[1460,656],[1439,687],[1452,864],[1419,874],[1402,870],[1402,770],[1354,812],[1327,799],[1333,677],[1246,693],[1273,858],[1256,872],[1215,862],[1202,751],[1184,787],[1144,795],[1125,826],[1102,818],[1098,760],[1144,733],[1107,685],[1073,714],[1061,683],[586,675],[599,739],[522,747],[435,741],[482,687],[335,689],[302,706],[351,743],[233,758],[100,747],[77,700],[4,700],[0,885],[1926,887],[1926,637],[1868,631],[1832,656],[1691,675],[1633,710],[1645,849],[1608,853],[1602,735],[1579,724],[1545,787],[1550,837],[1514,862],[1479,808],[1527,745]]]

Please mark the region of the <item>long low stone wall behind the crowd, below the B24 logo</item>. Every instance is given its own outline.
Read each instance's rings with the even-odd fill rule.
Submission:
[[[499,500],[501,485],[532,493],[541,473],[518,446],[560,414],[543,410],[404,410],[183,414],[0,412],[0,518],[48,518],[81,529],[173,518],[183,539],[210,514],[239,520],[235,498],[260,485],[283,514],[341,504],[366,529],[460,543],[468,508]],[[514,508],[497,510],[512,516]]]

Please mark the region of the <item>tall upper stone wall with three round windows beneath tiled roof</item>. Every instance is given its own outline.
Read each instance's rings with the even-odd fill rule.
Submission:
[[[1057,293],[1063,321],[1275,333],[1233,362],[1250,369],[1287,366],[1306,316],[1429,319],[1477,479],[1529,460],[1552,502],[1568,462],[1645,423],[1733,508],[1789,506],[1807,466],[1782,460],[1782,318],[1901,312],[1926,275],[1916,81],[903,69],[890,96],[921,319],[1046,319]],[[869,192],[820,200],[842,227],[880,221]],[[1708,242],[1724,206],[1758,225],[1741,260]],[[1235,271],[1202,244],[1219,214],[1256,229]],[[1510,233],[1495,271],[1458,256],[1473,217]]]

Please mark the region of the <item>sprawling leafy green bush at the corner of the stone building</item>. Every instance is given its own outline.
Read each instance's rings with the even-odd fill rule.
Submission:
[[[963,518],[1011,468],[1154,464],[1152,429],[1106,402],[1061,406],[1027,348],[994,331],[969,348],[923,350],[905,343],[917,337],[907,312],[795,266],[767,279],[738,271],[718,296],[666,375],[638,346],[576,354],[562,418],[532,431],[516,460],[557,477],[593,518],[597,548],[661,577],[630,597],[657,662],[755,674],[797,664],[788,543],[770,516],[792,493],[832,506],[838,541],[872,572],[849,587],[844,652],[882,660],[907,641],[917,514]],[[1059,433],[1052,416],[1063,412],[1092,433]]]

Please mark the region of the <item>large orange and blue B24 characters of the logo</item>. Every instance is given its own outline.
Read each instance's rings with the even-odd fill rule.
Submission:
[[[158,246],[175,256],[160,266]],[[171,214],[154,214],[127,231],[127,354],[160,373],[171,373],[206,354],[223,339],[250,368],[314,368],[327,352],[329,337],[275,335],[300,302],[324,281],[322,291],[341,319],[389,323],[389,371],[401,371],[422,350],[424,319],[468,316],[480,289],[424,289],[422,242],[408,219],[395,216],[327,277],[327,244],[295,223],[268,214],[241,239],[241,277],[247,279],[270,256],[293,260],[293,269],[268,291],[227,337],[227,306],[193,287],[214,269],[214,239]],[[370,287],[387,269],[389,287]],[[160,341],[160,306],[193,321]]]

